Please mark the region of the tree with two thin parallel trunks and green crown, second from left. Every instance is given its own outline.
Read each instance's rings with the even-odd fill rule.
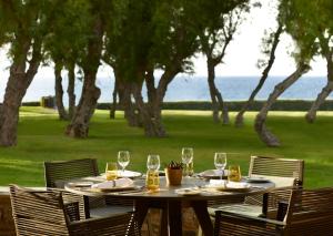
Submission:
[[[53,1],[53,23],[44,39],[46,60],[54,63],[56,101],[61,120],[72,119],[75,109],[75,64],[84,55],[89,34],[89,2],[84,0]],[[68,70],[69,111],[63,105],[61,71]]]

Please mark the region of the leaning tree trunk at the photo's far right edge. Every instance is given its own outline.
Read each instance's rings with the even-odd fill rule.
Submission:
[[[305,115],[305,120],[309,123],[313,123],[316,117],[316,111],[320,109],[321,104],[325,101],[325,99],[330,95],[333,90],[333,61],[332,61],[333,52],[329,52],[326,55],[326,66],[327,66],[327,84],[323,88],[321,93],[317,95],[316,100],[312,103],[311,109]]]

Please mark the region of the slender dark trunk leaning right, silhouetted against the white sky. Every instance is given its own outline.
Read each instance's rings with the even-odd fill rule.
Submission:
[[[256,88],[252,91],[249,100],[244,103],[241,111],[235,116],[235,126],[236,127],[243,126],[243,124],[244,124],[244,113],[249,110],[249,106],[253,103],[254,98],[256,96],[256,94],[259,93],[259,91],[261,90],[261,88],[263,86],[263,84],[265,83],[265,81],[269,76],[269,73],[270,73],[270,71],[271,71],[271,69],[274,64],[274,61],[275,61],[275,51],[276,51],[278,44],[280,42],[281,33],[282,33],[282,24],[279,24],[279,28],[274,33],[274,40],[273,40],[272,48],[271,48],[269,63],[265,66],[264,71],[262,72],[262,76],[261,76]]]

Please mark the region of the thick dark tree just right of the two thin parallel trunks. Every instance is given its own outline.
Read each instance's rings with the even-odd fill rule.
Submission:
[[[83,1],[84,2],[84,1]],[[101,61],[103,48],[103,35],[109,1],[89,1],[89,9],[85,12],[89,34],[85,35],[87,44],[82,49],[79,65],[83,71],[83,88],[81,99],[71,123],[67,126],[65,133],[72,137],[87,137],[89,122],[94,112],[97,101],[101,91],[95,86],[95,76]]]

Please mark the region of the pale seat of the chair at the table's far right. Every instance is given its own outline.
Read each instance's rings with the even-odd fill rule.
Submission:
[[[261,217],[262,214],[262,206],[251,205],[251,204],[223,204],[220,206],[211,206],[208,207],[209,214],[211,217],[215,217],[215,211],[222,211],[225,213],[236,213],[244,216],[253,216],[253,217]]]

